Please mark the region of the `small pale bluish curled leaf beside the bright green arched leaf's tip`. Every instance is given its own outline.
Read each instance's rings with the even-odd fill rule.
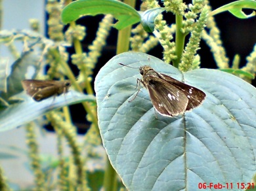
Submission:
[[[155,9],[148,9],[141,14],[141,24],[145,31],[152,33],[155,29],[154,21],[165,9],[158,7]]]

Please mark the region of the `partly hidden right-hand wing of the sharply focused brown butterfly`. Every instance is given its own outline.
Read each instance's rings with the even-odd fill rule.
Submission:
[[[206,95],[202,90],[184,84],[179,80],[175,80],[175,78],[169,77],[168,75],[165,75],[163,73],[160,73],[160,75],[162,76],[163,80],[166,80],[167,82],[173,84],[173,86],[181,90],[186,95],[186,97],[188,97],[188,105],[186,107],[186,111],[190,111],[191,109],[198,107],[205,99]]]

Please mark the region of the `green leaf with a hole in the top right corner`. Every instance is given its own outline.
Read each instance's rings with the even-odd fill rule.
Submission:
[[[256,1],[255,0],[240,0],[240,1],[234,1],[232,3],[228,3],[227,5],[224,5],[222,7],[219,7],[218,9],[213,10],[210,12],[210,16],[213,16],[215,14],[219,14],[220,12],[224,12],[228,10],[231,12],[234,16],[238,18],[250,18],[252,16],[255,16],[255,11],[253,11],[251,14],[247,15],[243,12],[242,9],[253,9],[256,10]]]

